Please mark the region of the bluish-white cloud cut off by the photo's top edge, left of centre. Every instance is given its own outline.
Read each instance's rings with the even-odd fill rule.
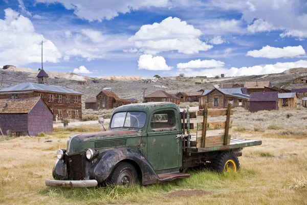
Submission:
[[[109,1],[109,0],[36,0],[40,3],[61,3],[66,9],[74,10],[74,13],[90,22],[103,19],[110,20],[119,15],[119,13],[127,13],[131,10],[139,10],[149,7],[168,7],[168,0],[125,0],[125,1]]]

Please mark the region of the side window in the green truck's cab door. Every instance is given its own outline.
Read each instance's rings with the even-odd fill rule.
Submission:
[[[176,125],[176,115],[173,111],[160,111],[152,115],[151,129],[172,128]]]

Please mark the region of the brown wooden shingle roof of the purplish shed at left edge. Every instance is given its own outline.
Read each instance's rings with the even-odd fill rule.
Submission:
[[[0,99],[0,114],[29,113],[39,100],[41,100],[40,97],[25,99]],[[43,100],[41,101],[46,105]],[[47,105],[46,107],[50,110]]]

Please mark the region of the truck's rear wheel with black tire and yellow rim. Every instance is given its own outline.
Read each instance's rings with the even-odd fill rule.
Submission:
[[[212,169],[217,172],[237,171],[239,168],[238,157],[233,152],[221,152],[212,160]]]

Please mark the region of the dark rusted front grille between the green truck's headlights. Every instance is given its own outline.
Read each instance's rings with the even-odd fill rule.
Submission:
[[[82,159],[84,153],[81,154],[74,154],[74,155],[66,155],[66,161],[67,161],[67,172],[69,175],[69,178],[72,180],[83,180],[83,163]]]

